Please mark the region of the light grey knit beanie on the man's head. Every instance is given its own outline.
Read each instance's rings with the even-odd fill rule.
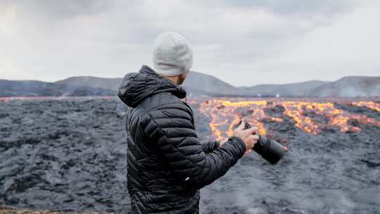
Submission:
[[[167,77],[188,72],[193,65],[190,43],[176,32],[159,34],[154,42],[153,64],[158,74]]]

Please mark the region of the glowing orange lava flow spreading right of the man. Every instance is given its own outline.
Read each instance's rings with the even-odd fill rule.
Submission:
[[[373,101],[349,103],[380,111],[380,104]],[[357,124],[380,127],[380,121],[366,115],[350,113],[334,106],[331,102],[312,101],[227,101],[213,99],[201,103],[200,111],[210,115],[210,130],[213,137],[220,140],[231,136],[233,126],[240,120],[249,122],[259,128],[260,134],[266,134],[264,121],[282,122],[293,120],[296,127],[310,134],[319,134],[329,127],[336,127],[341,132],[360,132]],[[274,109],[277,114],[267,114]]]

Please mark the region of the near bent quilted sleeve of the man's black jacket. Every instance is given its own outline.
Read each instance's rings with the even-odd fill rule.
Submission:
[[[191,109],[183,103],[160,106],[148,115],[155,127],[158,148],[172,172],[196,189],[222,177],[246,151],[241,138],[230,137],[224,146],[205,153],[194,129]]]

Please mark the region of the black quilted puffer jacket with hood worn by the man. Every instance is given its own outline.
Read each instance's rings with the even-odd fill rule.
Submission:
[[[198,213],[199,189],[246,150],[239,137],[201,144],[184,90],[144,65],[118,92],[127,109],[127,182],[134,213]]]

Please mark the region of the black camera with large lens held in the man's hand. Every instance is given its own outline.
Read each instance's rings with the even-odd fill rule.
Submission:
[[[241,123],[241,122],[240,122]],[[240,124],[239,123],[239,124]],[[251,128],[248,122],[244,122],[244,130]],[[284,153],[288,151],[288,148],[279,144],[279,142],[258,134],[258,142],[253,146],[253,151],[258,153],[262,158],[267,160],[269,163],[276,164],[281,160]]]

